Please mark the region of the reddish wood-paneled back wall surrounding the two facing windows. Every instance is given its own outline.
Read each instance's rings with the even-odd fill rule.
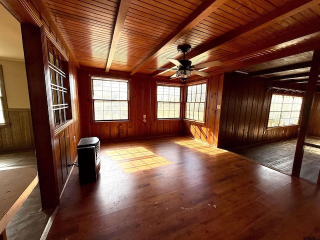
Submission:
[[[129,120],[93,121],[91,75],[123,77],[129,80]],[[101,141],[137,137],[181,134],[181,119],[156,119],[156,82],[172,80],[150,78],[145,75],[128,76],[124,72],[105,73],[103,69],[82,68],[78,71],[81,137],[97,136]],[[173,82],[180,83],[179,80]],[[143,122],[143,114],[146,122]]]

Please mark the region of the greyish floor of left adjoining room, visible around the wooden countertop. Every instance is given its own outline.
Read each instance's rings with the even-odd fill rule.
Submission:
[[[0,170],[36,167],[34,150],[0,154]],[[19,176],[17,176],[19,177]],[[6,226],[9,240],[39,240],[53,209],[41,210],[40,189],[37,184]]]

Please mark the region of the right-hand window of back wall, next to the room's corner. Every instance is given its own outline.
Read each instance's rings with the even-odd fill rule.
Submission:
[[[179,86],[160,84],[156,86],[156,117],[158,119],[180,117],[180,91],[181,88]]]

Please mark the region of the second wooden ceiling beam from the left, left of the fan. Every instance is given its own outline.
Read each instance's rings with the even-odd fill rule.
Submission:
[[[130,72],[133,75],[147,61],[152,60],[163,50],[172,45],[185,33],[190,31],[204,17],[208,16],[226,0],[204,0],[192,13],[186,17],[167,37],[165,37],[142,61],[140,61]]]

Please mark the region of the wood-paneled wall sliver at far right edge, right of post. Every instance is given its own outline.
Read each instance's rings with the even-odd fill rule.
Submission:
[[[314,94],[313,105],[311,108],[309,124],[308,124],[308,135],[320,136],[320,93]]]

